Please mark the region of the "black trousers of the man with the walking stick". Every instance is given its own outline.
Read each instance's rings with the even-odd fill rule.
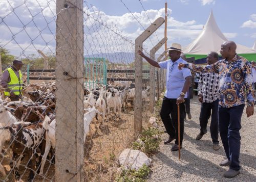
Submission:
[[[160,116],[163,121],[167,134],[170,137],[176,137],[175,144],[178,145],[178,107],[175,98],[163,98]],[[180,103],[180,143],[182,144],[184,134],[184,102]],[[171,116],[171,117],[170,117]]]

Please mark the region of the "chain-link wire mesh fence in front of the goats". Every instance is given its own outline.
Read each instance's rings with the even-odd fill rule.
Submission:
[[[77,1],[67,1],[61,8],[57,2],[0,2],[5,9],[0,12],[5,34],[0,42],[2,69],[11,75],[8,68],[17,68],[12,61],[23,62],[20,95],[6,97],[1,88],[1,180],[58,181],[63,165],[73,162],[74,169],[66,169],[71,176],[67,181],[78,173],[85,181],[122,181],[126,174],[118,156],[137,140],[135,44],[114,22],[105,23],[103,13],[86,1],[83,8]],[[81,21],[72,21],[76,11],[82,14]],[[56,25],[58,18],[62,20]],[[83,27],[84,32],[70,27]],[[143,63],[144,127],[152,116],[149,75],[150,66]]]

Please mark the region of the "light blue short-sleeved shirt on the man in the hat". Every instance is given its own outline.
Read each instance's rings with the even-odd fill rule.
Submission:
[[[187,63],[179,58],[173,62],[171,60],[158,63],[160,68],[166,69],[166,91],[164,96],[167,98],[178,98],[183,89],[185,78],[191,76],[191,72],[187,68],[178,69],[179,63]],[[187,98],[187,93],[184,98]]]

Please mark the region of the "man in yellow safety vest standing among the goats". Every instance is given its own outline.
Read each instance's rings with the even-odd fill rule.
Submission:
[[[14,60],[12,66],[4,70],[2,75],[1,86],[5,89],[5,96],[9,96],[12,101],[19,100],[22,96],[22,66],[22,61]]]

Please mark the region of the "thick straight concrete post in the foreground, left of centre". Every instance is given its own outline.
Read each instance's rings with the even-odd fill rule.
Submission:
[[[55,181],[83,181],[83,1],[56,6]]]

